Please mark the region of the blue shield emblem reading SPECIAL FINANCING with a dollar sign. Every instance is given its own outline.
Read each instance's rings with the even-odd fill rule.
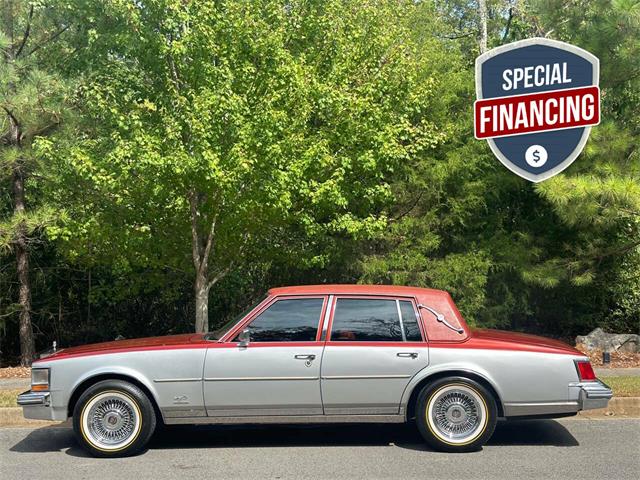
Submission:
[[[512,172],[541,182],[580,155],[600,121],[599,61],[532,38],[476,59],[475,135]]]

